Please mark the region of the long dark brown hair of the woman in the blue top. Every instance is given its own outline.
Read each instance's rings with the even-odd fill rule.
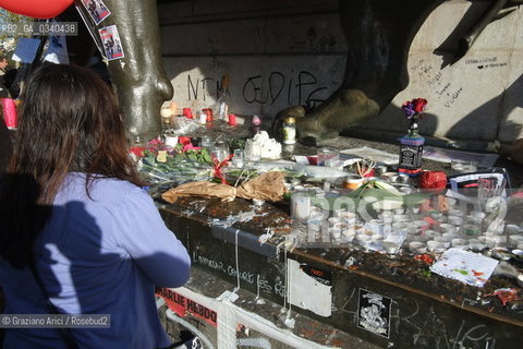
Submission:
[[[94,176],[142,184],[117,99],[96,74],[44,64],[31,74],[22,100],[14,153],[0,186],[0,255],[16,267],[27,265],[68,172],[87,174],[87,194]]]

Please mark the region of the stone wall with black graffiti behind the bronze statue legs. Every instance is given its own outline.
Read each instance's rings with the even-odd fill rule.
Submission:
[[[404,133],[401,104],[425,97],[429,109],[419,127],[426,135],[523,136],[523,7],[504,10],[454,58],[459,39],[489,3],[452,0],[437,8],[414,37],[409,86],[361,130]],[[292,105],[317,106],[343,81],[348,44],[337,1],[184,0],[159,4],[159,16],[165,65],[181,107],[211,106],[223,74],[231,111],[266,118]]]

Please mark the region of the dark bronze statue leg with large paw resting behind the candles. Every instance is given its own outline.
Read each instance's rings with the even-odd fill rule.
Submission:
[[[321,106],[297,120],[299,137],[337,135],[387,107],[409,83],[412,39],[442,1],[340,0],[348,45],[344,81]]]

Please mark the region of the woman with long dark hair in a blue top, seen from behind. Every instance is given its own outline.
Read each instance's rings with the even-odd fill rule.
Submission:
[[[48,298],[59,313],[110,314],[107,328],[71,328],[80,348],[169,346],[154,287],[184,285],[190,257],[139,186],[115,97],[88,70],[45,64],[23,100],[0,185],[4,313],[48,314]],[[9,328],[3,342],[65,347],[57,328]]]

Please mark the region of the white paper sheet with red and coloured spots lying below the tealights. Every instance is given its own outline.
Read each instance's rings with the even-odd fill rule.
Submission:
[[[462,281],[466,285],[483,287],[490,278],[498,261],[460,249],[449,249],[430,272]]]

